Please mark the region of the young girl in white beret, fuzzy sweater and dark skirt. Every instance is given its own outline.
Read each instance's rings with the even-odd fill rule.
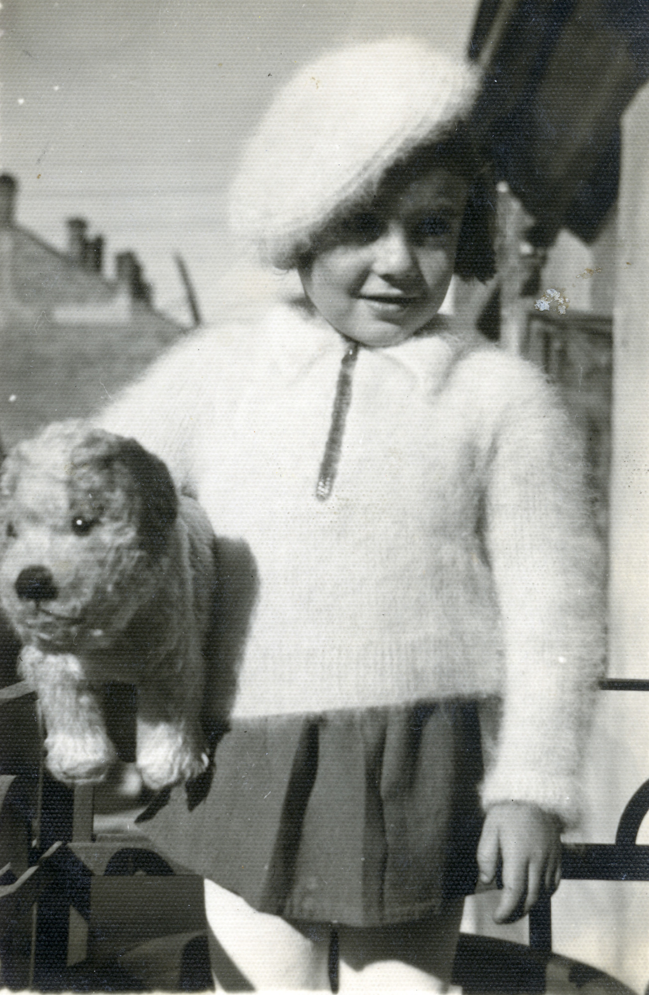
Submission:
[[[219,536],[206,723],[227,699],[230,730],[144,828],[207,879],[226,988],[326,988],[333,937],[341,990],[439,990],[478,868],[525,914],[578,812],[580,460],[540,373],[438,313],[453,273],[493,273],[477,87],[410,40],[299,73],[233,218],[304,298],[182,342],[103,420]]]

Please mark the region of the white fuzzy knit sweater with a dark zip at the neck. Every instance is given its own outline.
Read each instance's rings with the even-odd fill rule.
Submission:
[[[571,822],[602,652],[569,423],[538,371],[438,318],[359,350],[320,501],[344,347],[278,305],[182,342],[102,419],[255,558],[233,714],[496,697],[484,804],[532,801]]]

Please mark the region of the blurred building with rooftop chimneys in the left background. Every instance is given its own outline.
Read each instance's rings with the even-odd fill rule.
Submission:
[[[186,329],[157,311],[131,252],[104,273],[104,239],[68,221],[68,250],[16,223],[18,184],[0,176],[0,437],[85,417]]]

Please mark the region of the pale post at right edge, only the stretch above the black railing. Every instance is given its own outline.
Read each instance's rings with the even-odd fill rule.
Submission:
[[[610,661],[615,675],[649,678],[649,88],[625,114],[622,141],[613,324]]]

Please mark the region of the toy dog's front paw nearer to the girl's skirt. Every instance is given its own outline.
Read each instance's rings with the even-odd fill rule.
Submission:
[[[137,769],[148,788],[159,791],[171,784],[191,781],[209,766],[207,753],[171,722],[137,722]]]

